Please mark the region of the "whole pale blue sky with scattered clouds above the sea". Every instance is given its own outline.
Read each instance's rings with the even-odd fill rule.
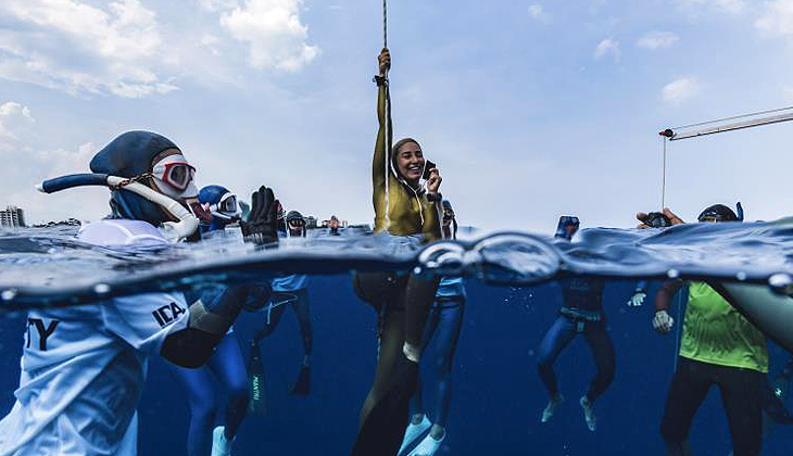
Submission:
[[[372,223],[380,0],[0,0],[0,206],[28,223],[108,213],[43,195],[131,129],[199,186]],[[666,127],[793,104],[793,0],[389,2],[394,137],[438,164],[462,225],[631,227],[660,206]],[[793,213],[793,123],[668,147],[666,205]]]

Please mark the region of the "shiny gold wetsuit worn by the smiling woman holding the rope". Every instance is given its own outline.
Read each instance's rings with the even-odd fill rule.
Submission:
[[[423,235],[423,242],[431,242],[442,237],[440,202],[430,202],[421,191],[412,189],[394,170],[391,162],[389,144],[391,138],[386,138],[386,122],[391,130],[391,115],[386,110],[389,99],[388,85],[379,84],[377,99],[377,118],[379,129],[375,144],[375,156],[372,164],[372,200],[375,206],[375,231],[388,232],[392,236]],[[390,104],[390,103],[389,103]],[[386,166],[388,165],[388,186],[386,185]],[[386,192],[388,187],[388,204]],[[388,205],[389,220],[386,218]],[[357,295],[375,306],[379,314],[379,351],[375,382],[361,410],[361,433],[358,443],[373,441],[376,443],[377,454],[389,453],[387,448],[391,442],[395,445],[394,454],[402,441],[407,425],[407,400],[417,388],[417,373],[405,377],[405,366],[414,364],[407,362],[403,355],[405,342],[419,346],[424,327],[427,321],[430,305],[438,290],[439,279],[387,273],[358,273],[354,278]],[[417,367],[413,370],[417,372]],[[391,400],[387,401],[386,397]],[[400,397],[394,401],[394,397]],[[382,421],[382,409],[378,414],[377,423],[368,421],[369,413],[376,405],[393,408],[386,413],[390,419]],[[399,404],[399,406],[394,406]],[[400,409],[404,407],[404,409]],[[373,431],[374,430],[374,431]],[[373,433],[374,432],[374,433]],[[373,433],[368,435],[367,433]],[[364,453],[366,446],[364,445]],[[356,449],[358,445],[356,444]],[[379,453],[385,452],[385,453]],[[355,451],[353,454],[356,454]],[[372,454],[372,453],[369,453]]]

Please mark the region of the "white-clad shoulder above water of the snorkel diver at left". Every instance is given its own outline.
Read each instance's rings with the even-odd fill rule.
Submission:
[[[156,227],[143,220],[103,219],[84,225],[77,239],[96,245],[167,244]]]

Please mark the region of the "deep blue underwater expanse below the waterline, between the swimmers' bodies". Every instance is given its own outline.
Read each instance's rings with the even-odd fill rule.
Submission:
[[[349,276],[310,278],[315,331],[313,384],[309,397],[289,395],[302,359],[297,320],[288,311],[276,332],[262,343],[267,370],[268,416],[247,419],[238,434],[238,455],[344,455],[354,441],[361,403],[375,367],[375,313],[358,301]],[[533,352],[561,303],[555,284],[534,288],[489,287],[469,280],[464,328],[454,363],[454,397],[448,436],[440,454],[487,455],[663,455],[658,425],[675,362],[675,335],[652,330],[652,305],[625,302],[633,281],[606,287],[605,308],[617,353],[617,373],[597,401],[597,431],[590,432],[577,398],[587,390],[594,366],[581,338],[556,363],[567,401],[554,419],[539,422],[546,395],[537,376]],[[650,290],[653,295],[655,287]],[[246,314],[237,325],[250,338],[262,314]],[[247,344],[243,344],[247,345]],[[22,319],[0,320],[2,376],[0,411],[8,410],[18,381]],[[244,349],[244,346],[243,346]],[[771,346],[771,371],[786,355]],[[425,387],[432,379],[432,349],[424,357]],[[153,358],[140,403],[140,454],[185,453],[188,408],[165,362]],[[427,387],[426,403],[431,404]],[[791,404],[789,404],[790,406]],[[430,411],[431,413],[431,411]],[[730,436],[714,389],[700,409],[691,442],[697,455],[726,456]],[[773,429],[765,455],[786,455],[793,429]]]

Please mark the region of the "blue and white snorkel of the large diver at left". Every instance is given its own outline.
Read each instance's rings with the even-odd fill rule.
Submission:
[[[190,213],[178,201],[173,200],[162,193],[159,193],[140,182],[133,179],[109,176],[99,173],[72,174],[53,179],[45,180],[36,186],[36,189],[42,193],[54,193],[75,187],[102,186],[113,190],[124,189],[138,194],[141,198],[159,205],[168,214],[178,218],[179,221],[163,221],[162,226],[166,233],[173,233],[173,238],[185,239],[192,236],[198,229],[199,219]]]

